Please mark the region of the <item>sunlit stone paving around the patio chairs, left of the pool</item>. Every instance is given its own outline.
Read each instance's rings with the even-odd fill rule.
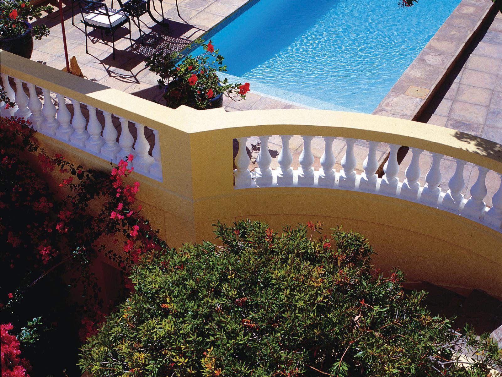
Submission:
[[[103,3],[111,6],[112,0]],[[85,53],[85,34],[79,7],[76,4],[75,25],[72,25],[71,1],[63,1],[63,18],[69,56],[76,56],[84,75],[91,80],[103,83],[118,90],[141,93],[147,89],[145,85],[157,82],[157,77],[145,67],[144,60],[158,51],[181,51],[190,42],[201,37],[207,30],[215,27],[248,0],[180,0],[178,16],[175,0],[164,0],[165,16],[169,17],[169,28],[157,25],[148,14],[140,17],[138,25],[132,19],[131,34],[133,44],[129,40],[126,27],[120,28],[115,34],[115,59],[112,59],[111,36],[101,40],[99,31],[89,32],[88,54]],[[32,60],[61,69],[66,65],[62,43],[60,14],[56,0],[48,4],[54,7],[52,14],[44,14],[34,24],[45,24],[51,34],[42,40],[35,40]],[[117,2],[114,2],[115,8]],[[141,28],[141,36],[140,29]],[[90,29],[88,29],[90,31]],[[153,99],[153,98],[150,98]]]

